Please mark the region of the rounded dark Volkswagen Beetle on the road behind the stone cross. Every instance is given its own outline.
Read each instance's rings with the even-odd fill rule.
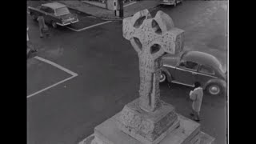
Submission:
[[[213,55],[199,51],[185,51],[178,57],[166,54],[163,58],[160,82],[174,82],[194,86],[199,82],[211,95],[226,92],[226,70]]]

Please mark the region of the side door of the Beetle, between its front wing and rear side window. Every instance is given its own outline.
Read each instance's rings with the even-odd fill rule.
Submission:
[[[190,61],[182,61],[178,64],[175,69],[175,80],[174,82],[186,85],[194,86],[196,82],[196,76],[198,71],[198,63]]]

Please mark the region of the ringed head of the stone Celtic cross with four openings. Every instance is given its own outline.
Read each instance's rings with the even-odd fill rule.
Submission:
[[[123,19],[123,37],[130,40],[138,54],[149,53],[154,59],[162,54],[178,54],[183,49],[184,30],[174,27],[168,14],[161,10],[152,18],[149,10]]]

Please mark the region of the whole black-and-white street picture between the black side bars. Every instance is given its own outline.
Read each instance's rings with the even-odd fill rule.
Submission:
[[[229,143],[229,0],[26,0],[26,41],[27,144]]]

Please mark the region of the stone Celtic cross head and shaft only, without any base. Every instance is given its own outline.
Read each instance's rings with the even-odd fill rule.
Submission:
[[[174,27],[170,16],[161,10],[154,18],[148,10],[142,10],[133,17],[123,19],[122,32],[138,53],[139,106],[142,110],[153,112],[160,106],[162,56],[182,51],[184,30]]]

